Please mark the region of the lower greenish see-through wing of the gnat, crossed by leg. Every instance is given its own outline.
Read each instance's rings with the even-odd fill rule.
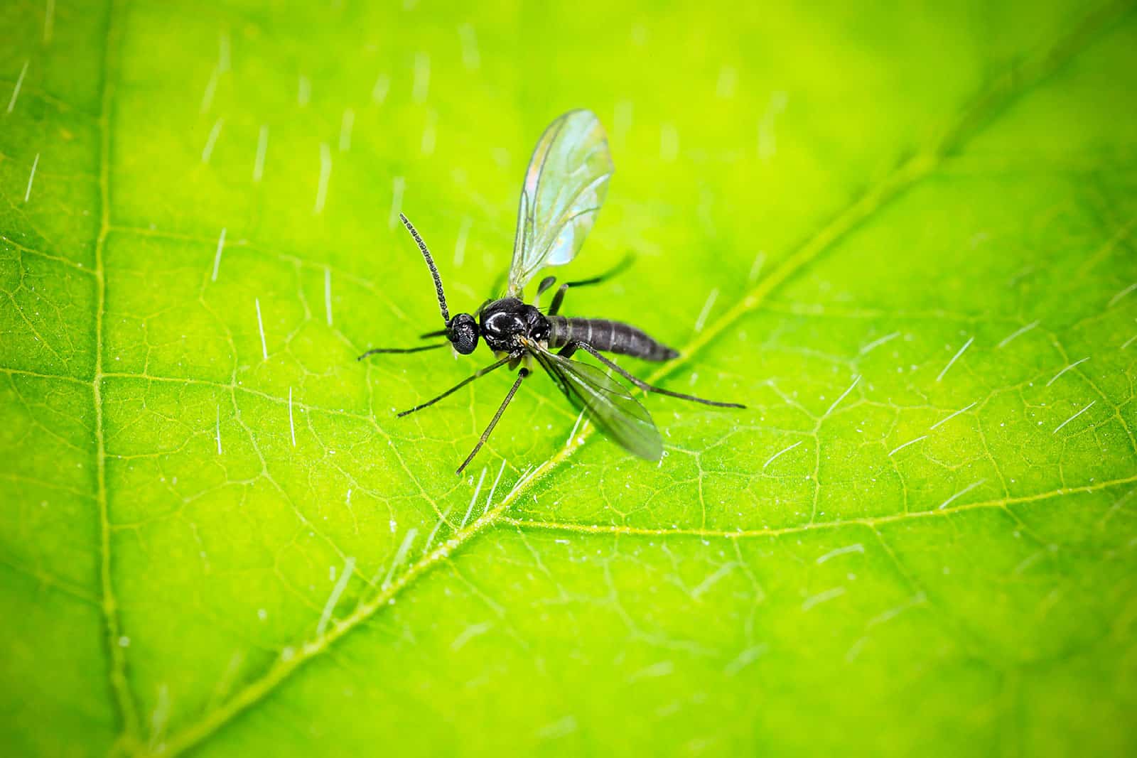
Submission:
[[[663,455],[659,430],[647,409],[622,384],[595,366],[562,358],[543,348],[531,347],[530,353],[601,432],[633,456],[659,460]]]

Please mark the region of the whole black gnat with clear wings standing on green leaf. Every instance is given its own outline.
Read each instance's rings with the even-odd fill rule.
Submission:
[[[474,351],[479,338],[484,340],[498,357],[497,361],[473,376],[463,380],[437,398],[404,410],[399,417],[432,406],[505,365],[514,369],[525,364],[517,372],[517,380],[509,388],[509,393],[493,414],[489,426],[482,432],[478,444],[458,466],[458,474],[462,474],[489,439],[506,406],[516,394],[517,388],[530,375],[533,360],[548,372],[568,400],[587,414],[597,427],[629,452],[648,460],[658,460],[663,455],[663,440],[652,417],[644,406],[611,375],[589,364],[573,360],[572,356],[578,350],[590,353],[641,390],[707,406],[744,407],[737,402],[704,400],[652,386],[600,353],[600,351],[613,352],[654,361],[670,360],[679,355],[634,326],[601,318],[566,318],[559,315],[565,292],[570,288],[599,284],[615,274],[621,266],[595,278],[562,284],[546,314],[542,314],[537,306],[526,305],[522,300],[522,289],[537,272],[546,266],[567,264],[576,256],[604,202],[612,172],[607,139],[600,122],[591,111],[572,110],[553,122],[538,140],[525,173],[506,297],[487,300],[476,313],[457,314],[453,318],[446,306],[446,295],[442,293],[442,280],[426,249],[426,243],[407,217],[399,215],[418,243],[431,276],[434,277],[438,306],[446,323],[446,328],[422,336],[423,339],[445,336],[446,341],[417,348],[374,348],[359,356],[359,359],[375,353],[434,350],[448,344],[465,356]],[[543,278],[537,288],[538,298],[555,282],[554,276]]]

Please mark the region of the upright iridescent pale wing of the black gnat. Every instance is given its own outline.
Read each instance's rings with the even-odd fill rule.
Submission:
[[[612,176],[612,156],[596,114],[570,110],[537,141],[517,210],[517,236],[509,266],[509,294],[545,266],[576,256],[596,222]]]

